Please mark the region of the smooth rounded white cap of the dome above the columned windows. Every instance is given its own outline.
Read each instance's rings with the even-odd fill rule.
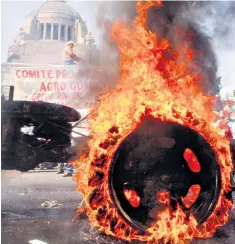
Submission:
[[[80,15],[64,0],[48,0],[39,7],[35,14],[39,21],[54,18],[57,19],[57,22],[59,19],[61,19],[60,22],[81,20]]]

